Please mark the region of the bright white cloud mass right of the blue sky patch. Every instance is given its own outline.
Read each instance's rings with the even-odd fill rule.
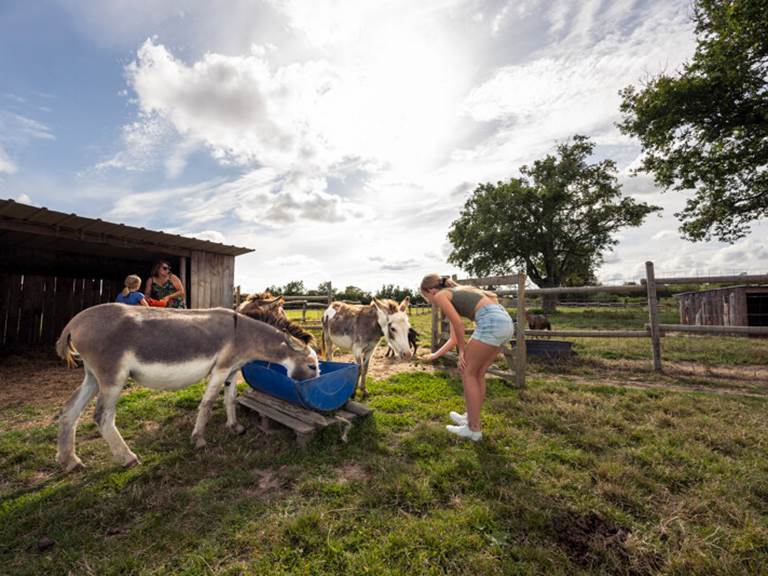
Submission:
[[[302,278],[415,285],[423,272],[453,271],[446,233],[476,183],[513,176],[578,132],[594,138],[598,158],[617,160],[626,193],[669,207],[622,233],[604,278],[636,277],[673,241],[671,265],[725,263],[722,246],[675,240],[679,197],[625,179],[639,148],[614,126],[621,88],[692,53],[684,0],[273,0],[268,28],[281,35],[235,5],[241,41],[249,18],[260,27],[239,49],[199,50],[198,39],[184,52],[167,40],[178,27],[143,41],[126,67],[138,114],[102,164],[173,180],[207,153],[220,171],[123,194],[111,217],[167,228],[170,214],[178,231],[221,230],[258,247],[238,261],[243,279],[258,279],[247,288]],[[196,17],[179,20],[199,31],[203,12],[193,3]],[[170,9],[163,18],[173,20]],[[747,248],[757,260],[731,261],[764,257]]]

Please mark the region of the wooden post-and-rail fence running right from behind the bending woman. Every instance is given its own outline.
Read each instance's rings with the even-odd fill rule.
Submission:
[[[661,324],[659,322],[658,292],[668,292],[675,284],[728,284],[728,283],[768,283],[768,275],[751,276],[707,276],[686,278],[656,278],[653,262],[645,263],[646,277],[640,285],[626,286],[576,286],[563,288],[525,288],[525,275],[493,276],[488,278],[472,278],[458,280],[460,284],[475,286],[498,286],[517,284],[514,290],[497,290],[500,300],[507,300],[509,307],[516,308],[516,347],[514,353],[505,347],[502,352],[507,363],[514,364],[515,382],[525,386],[527,358],[525,354],[525,338],[527,336],[547,336],[566,338],[649,338],[653,353],[653,368],[662,370],[661,339],[670,333],[690,334],[738,334],[768,336],[768,327],[763,326],[692,326],[687,324]],[[525,299],[530,296],[561,295],[561,294],[644,294],[647,298],[648,323],[643,330],[525,330]],[[511,300],[511,302],[510,302]],[[466,331],[471,334],[471,330]],[[449,337],[448,323],[439,309],[432,307],[432,351],[437,350]],[[498,371],[496,371],[498,373]],[[502,376],[509,374],[503,373]]]

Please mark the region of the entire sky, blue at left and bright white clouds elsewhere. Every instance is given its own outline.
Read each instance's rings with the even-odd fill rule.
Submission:
[[[478,184],[583,134],[664,208],[600,281],[766,273],[768,224],[683,240],[685,194],[616,128],[694,47],[689,0],[0,0],[0,198],[253,248],[246,291],[413,288],[467,276],[447,232]]]

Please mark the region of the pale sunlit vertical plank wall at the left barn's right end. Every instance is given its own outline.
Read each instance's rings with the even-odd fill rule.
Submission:
[[[235,285],[235,257],[193,251],[189,279],[192,308],[232,307]]]

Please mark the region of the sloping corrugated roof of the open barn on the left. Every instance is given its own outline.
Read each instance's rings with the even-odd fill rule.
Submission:
[[[15,200],[0,200],[0,228],[2,228],[3,222],[16,222],[41,228],[53,228],[75,232],[84,236],[97,235],[127,244],[153,244],[170,250],[173,248],[202,250],[215,254],[227,254],[229,256],[240,256],[253,252],[251,248],[230,246],[178,234],[147,230],[146,228],[107,222],[100,218],[85,218],[77,214],[66,214],[64,212],[48,210],[47,208],[21,204]]]

